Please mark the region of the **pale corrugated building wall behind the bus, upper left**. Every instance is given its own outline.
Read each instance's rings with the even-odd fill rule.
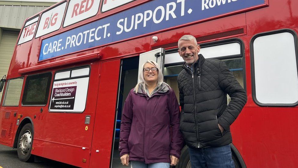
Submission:
[[[54,4],[0,0],[0,79],[7,75],[13,49],[26,18]],[[0,92],[0,101],[2,93],[3,91]]]

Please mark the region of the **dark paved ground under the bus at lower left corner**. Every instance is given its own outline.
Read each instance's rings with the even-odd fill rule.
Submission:
[[[22,162],[18,158],[16,149],[0,144],[0,168],[77,168],[65,163],[56,162],[50,159],[38,158],[37,162]]]

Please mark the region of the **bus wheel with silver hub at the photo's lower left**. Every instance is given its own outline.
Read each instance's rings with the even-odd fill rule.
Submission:
[[[21,129],[18,137],[17,152],[20,161],[33,161],[34,155],[31,155],[33,143],[33,128],[32,124],[28,123]]]

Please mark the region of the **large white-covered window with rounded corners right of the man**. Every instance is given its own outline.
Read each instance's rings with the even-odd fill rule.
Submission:
[[[298,103],[297,37],[289,29],[253,37],[253,99],[263,106]]]

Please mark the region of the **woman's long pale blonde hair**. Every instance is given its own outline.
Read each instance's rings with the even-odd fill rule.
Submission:
[[[138,84],[136,84],[136,87],[134,88],[133,91],[135,91],[136,93],[138,92],[138,89],[139,89],[139,85],[142,85],[142,89],[145,91],[145,88],[148,86],[147,82],[145,81],[145,78],[144,78],[144,73],[143,73],[143,69],[144,69],[144,66],[145,64],[151,64],[153,65],[155,68],[157,68],[157,71],[158,71],[158,76],[157,76],[157,87],[160,87],[160,85],[163,82],[163,75],[162,75],[162,71],[158,65],[157,62],[155,61],[152,61],[152,60],[147,60],[142,66],[141,68],[139,69],[139,79],[140,79],[140,82]],[[168,84],[166,84],[168,85]],[[168,85],[169,86],[169,85]]]

